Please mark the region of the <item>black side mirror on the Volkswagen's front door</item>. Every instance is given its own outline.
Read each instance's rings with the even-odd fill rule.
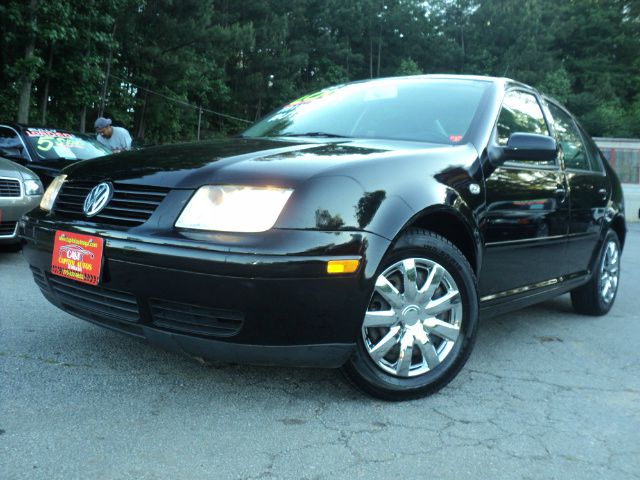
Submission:
[[[508,160],[549,161],[558,155],[558,146],[553,137],[537,133],[512,133],[505,147],[489,148],[489,159],[494,166]]]

